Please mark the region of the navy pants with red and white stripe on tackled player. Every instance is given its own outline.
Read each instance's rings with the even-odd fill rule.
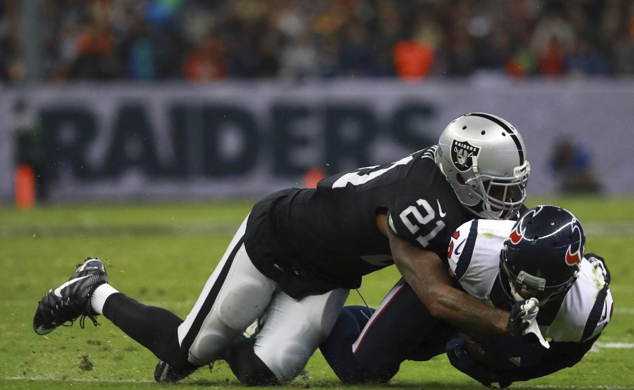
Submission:
[[[454,327],[430,315],[401,279],[377,310],[342,309],[320,350],[346,384],[387,382],[404,360],[425,361],[444,353],[446,342],[455,334]]]

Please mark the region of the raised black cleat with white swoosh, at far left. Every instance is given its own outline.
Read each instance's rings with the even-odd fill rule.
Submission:
[[[33,329],[39,335],[47,334],[60,325],[70,326],[81,316],[79,326],[84,327],[86,317],[98,325],[90,297],[94,290],[108,283],[108,275],[100,259],[86,258],[84,264],[77,264],[77,271],[63,283],[37,303],[36,315],[33,318]],[[65,323],[70,324],[65,325]]]

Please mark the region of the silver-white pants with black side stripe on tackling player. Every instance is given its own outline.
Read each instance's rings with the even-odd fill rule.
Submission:
[[[215,361],[231,341],[266,311],[254,346],[256,355],[281,381],[294,379],[332,330],[349,290],[335,289],[299,301],[253,265],[242,237],[242,223],[198,301],[178,328],[189,361]]]

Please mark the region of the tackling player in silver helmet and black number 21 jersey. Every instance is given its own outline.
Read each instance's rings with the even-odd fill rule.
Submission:
[[[451,287],[441,256],[474,215],[515,215],[529,171],[513,126],[494,115],[463,115],[438,145],[258,202],[184,320],[115,290],[103,264],[88,259],[41,299],[34,328],[46,334],[103,314],[159,357],[156,380],[174,382],[224,358],[246,384],[279,384],[294,379],[326,339],[361,276],[396,263],[438,318],[507,332],[508,311]],[[258,336],[239,337],[262,314]]]

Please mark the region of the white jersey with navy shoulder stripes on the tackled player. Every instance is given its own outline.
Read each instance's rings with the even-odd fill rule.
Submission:
[[[510,302],[498,278],[500,251],[514,223],[486,219],[464,223],[453,233],[448,251],[451,273],[462,289],[502,309],[509,309]],[[614,309],[604,276],[602,268],[584,258],[566,295],[540,308],[541,334],[555,342],[584,342],[598,335]]]

